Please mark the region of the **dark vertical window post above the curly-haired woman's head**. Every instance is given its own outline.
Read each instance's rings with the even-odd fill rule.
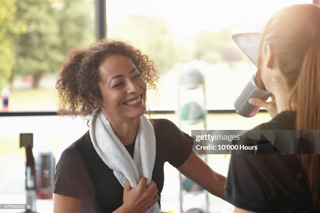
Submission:
[[[106,0],[96,0],[96,40],[107,37]]]

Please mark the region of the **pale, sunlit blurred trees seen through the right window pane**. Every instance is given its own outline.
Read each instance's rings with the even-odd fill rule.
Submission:
[[[185,63],[193,59],[209,63],[243,59],[243,54],[231,39],[234,27],[230,26],[219,33],[203,30],[194,38],[176,38],[162,17],[134,14],[109,29],[108,37],[131,41],[150,55],[159,70],[164,72],[176,63]],[[229,49],[229,52],[232,52],[231,59],[222,54],[226,52],[224,50]]]

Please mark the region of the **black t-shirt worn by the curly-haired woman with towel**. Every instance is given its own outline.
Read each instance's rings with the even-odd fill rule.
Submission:
[[[155,119],[156,160],[152,172],[161,195],[164,162],[181,166],[189,157],[193,138],[166,119]],[[125,146],[133,156],[134,143]],[[99,157],[89,131],[71,144],[60,156],[54,179],[54,193],[82,199],[82,212],[112,212],[123,204],[124,188]],[[160,200],[158,201],[160,206]],[[92,210],[90,206],[93,207]]]

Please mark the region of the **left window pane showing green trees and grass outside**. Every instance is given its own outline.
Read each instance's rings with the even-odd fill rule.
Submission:
[[[9,112],[56,111],[60,64],[94,41],[94,0],[2,2],[0,90],[10,89]]]

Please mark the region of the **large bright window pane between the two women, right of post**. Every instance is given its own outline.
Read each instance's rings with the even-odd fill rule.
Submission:
[[[256,68],[232,40],[232,29],[263,24],[297,3],[312,1],[107,1],[108,37],[131,41],[158,65],[162,79],[148,95],[151,109],[178,107],[180,73],[192,67],[205,76],[206,108],[234,109]]]

